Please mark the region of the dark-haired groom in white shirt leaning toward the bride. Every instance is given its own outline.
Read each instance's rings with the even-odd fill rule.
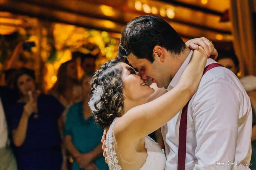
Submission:
[[[211,47],[206,38],[204,43]],[[118,48],[119,59],[127,59],[143,79],[157,85],[154,98],[178,84],[192,53],[172,26],[158,16],[140,16],[127,23]],[[212,63],[216,62],[208,59],[206,66]],[[161,128],[166,170],[178,167],[181,113]],[[249,169],[252,108],[231,71],[215,67],[204,74],[188,103],[186,121],[186,170]]]

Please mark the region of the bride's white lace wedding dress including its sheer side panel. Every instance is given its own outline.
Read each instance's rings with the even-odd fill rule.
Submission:
[[[145,149],[147,151],[147,158],[141,168],[138,167],[137,161],[127,162],[125,161],[118,151],[115,136],[113,134],[113,127],[118,118],[115,118],[107,132],[107,140],[105,142],[107,146],[108,166],[110,170],[164,170],[166,164],[166,157],[160,146],[149,136],[145,136]],[[119,155],[119,163],[118,157]],[[142,158],[145,160],[145,158]]]

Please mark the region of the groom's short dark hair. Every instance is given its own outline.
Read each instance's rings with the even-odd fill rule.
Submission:
[[[132,53],[139,59],[147,59],[153,63],[153,49],[156,45],[174,54],[180,54],[186,48],[186,44],[169,23],[154,15],[139,16],[124,27],[117,57],[124,60]]]

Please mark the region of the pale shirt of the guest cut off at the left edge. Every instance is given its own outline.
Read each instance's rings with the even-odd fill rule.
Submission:
[[[0,148],[6,147],[8,144],[8,129],[4,115],[3,104],[0,98]]]

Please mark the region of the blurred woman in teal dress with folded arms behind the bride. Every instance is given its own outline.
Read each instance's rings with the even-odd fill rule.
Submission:
[[[102,156],[103,130],[93,121],[88,106],[89,75],[82,78],[84,101],[73,104],[67,113],[64,140],[73,157],[73,170],[108,170]]]

